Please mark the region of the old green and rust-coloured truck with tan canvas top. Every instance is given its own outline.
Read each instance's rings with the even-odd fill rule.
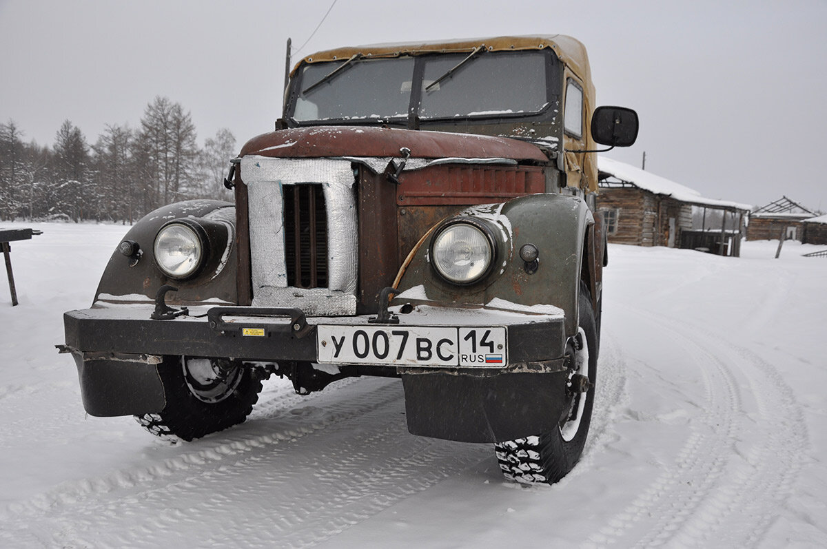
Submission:
[[[567,36],[308,55],[232,160],[235,204],[151,212],[65,313],[84,408],[189,441],[243,422],[273,374],[299,394],[394,377],[410,432],[559,480],[595,394],[595,143],[638,133],[594,97]]]

